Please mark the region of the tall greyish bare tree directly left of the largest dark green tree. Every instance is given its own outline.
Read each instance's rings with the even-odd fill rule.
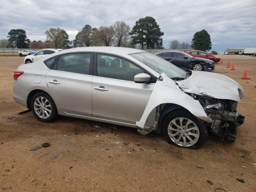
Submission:
[[[124,46],[129,38],[130,26],[124,21],[116,21],[113,28],[115,31],[117,46]]]

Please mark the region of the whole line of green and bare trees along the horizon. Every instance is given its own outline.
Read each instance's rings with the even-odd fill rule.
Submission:
[[[150,16],[140,18],[130,28],[124,21],[116,21],[112,26],[95,28],[86,24],[72,41],[64,29],[50,28],[46,30],[46,41],[32,41],[27,38],[22,29],[12,29],[8,32],[8,39],[0,40],[1,48],[72,48],[85,46],[118,46],[140,49],[164,49],[161,31],[156,20]],[[210,35],[206,30],[196,32],[191,44],[172,40],[170,49],[198,49],[210,50]]]

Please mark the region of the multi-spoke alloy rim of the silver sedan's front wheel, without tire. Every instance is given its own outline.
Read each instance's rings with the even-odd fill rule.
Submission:
[[[190,147],[198,142],[198,126],[188,118],[173,119],[167,129],[170,139],[178,146]]]

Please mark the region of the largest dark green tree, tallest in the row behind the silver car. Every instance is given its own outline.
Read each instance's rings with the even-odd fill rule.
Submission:
[[[152,17],[140,18],[130,32],[133,44],[144,44],[148,48],[162,48],[164,32],[161,32],[156,20]]]

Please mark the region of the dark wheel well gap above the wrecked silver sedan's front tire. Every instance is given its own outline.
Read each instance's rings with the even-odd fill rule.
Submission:
[[[160,109],[162,108],[162,110],[160,112],[160,117],[159,117],[159,120],[158,120],[158,132],[159,133],[162,132],[162,120],[164,119],[166,114],[168,114],[169,112],[177,110],[177,109],[183,109],[186,112],[190,113],[190,111],[187,110],[186,108],[184,108],[184,107],[182,107],[180,105],[177,105],[177,104],[173,104],[173,103],[161,104],[161,105],[159,105],[157,107],[160,107]]]

